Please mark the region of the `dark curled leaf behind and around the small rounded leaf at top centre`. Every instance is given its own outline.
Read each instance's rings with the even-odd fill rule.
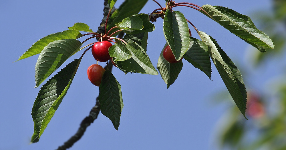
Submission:
[[[141,13],[141,14],[133,15],[133,16],[138,16],[142,19],[143,29],[142,30],[125,29],[124,33],[126,33],[126,34],[137,34],[137,33],[143,33],[143,32],[152,32],[155,30],[155,26],[153,23],[150,23],[149,17],[147,14]]]

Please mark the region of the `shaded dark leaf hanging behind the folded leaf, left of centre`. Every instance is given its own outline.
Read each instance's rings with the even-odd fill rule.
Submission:
[[[147,39],[148,39],[148,32],[138,33],[138,34],[126,34],[123,38],[128,43],[136,42],[140,45],[143,50],[147,51]]]

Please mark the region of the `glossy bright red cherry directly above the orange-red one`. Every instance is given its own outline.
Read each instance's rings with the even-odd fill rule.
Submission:
[[[112,46],[112,44],[106,40],[94,43],[91,50],[94,59],[100,62],[110,60],[111,57],[108,53],[108,48],[110,48],[110,46]]]

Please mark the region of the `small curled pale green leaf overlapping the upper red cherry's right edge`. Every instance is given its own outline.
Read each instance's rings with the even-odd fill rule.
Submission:
[[[108,49],[110,57],[116,58],[115,61],[123,61],[131,58],[131,54],[126,45],[116,38],[115,41],[115,44]]]

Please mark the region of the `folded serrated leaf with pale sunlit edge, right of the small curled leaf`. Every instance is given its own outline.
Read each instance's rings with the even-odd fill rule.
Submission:
[[[152,75],[158,74],[150,58],[141,46],[139,46],[136,42],[131,42],[128,43],[126,47],[131,53],[131,58],[128,60],[115,62],[116,65],[118,64],[118,68],[120,68],[124,73],[137,72]]]

